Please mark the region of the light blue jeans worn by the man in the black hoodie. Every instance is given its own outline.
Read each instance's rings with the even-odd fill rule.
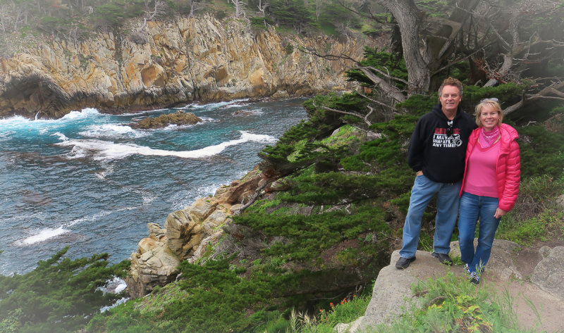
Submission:
[[[436,253],[450,252],[450,237],[453,234],[458,217],[458,193],[460,183],[434,182],[420,175],[415,177],[415,184],[411,189],[410,207],[407,209],[405,224],[403,225],[403,244],[400,256],[413,258],[419,244],[421,219],[429,201],[436,195],[435,237],[433,251]]]

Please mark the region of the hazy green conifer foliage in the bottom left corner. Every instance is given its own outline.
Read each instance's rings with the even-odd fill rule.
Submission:
[[[0,313],[7,314],[0,327],[7,332],[74,332],[99,308],[121,298],[99,287],[125,275],[128,260],[106,268],[105,253],[71,260],[62,258],[66,251],[68,247],[39,261],[25,275],[0,276]]]

